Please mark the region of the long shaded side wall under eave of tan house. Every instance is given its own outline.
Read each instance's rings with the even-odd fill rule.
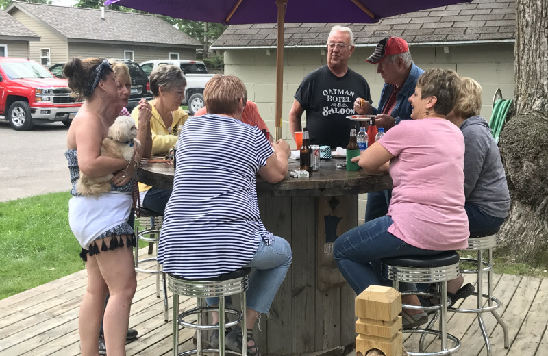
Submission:
[[[80,57],[104,57],[124,58],[124,51],[134,51],[134,60],[137,63],[146,60],[160,60],[169,58],[170,52],[178,52],[182,60],[195,60],[196,50],[177,47],[138,46],[130,44],[95,44],[95,43],[69,43],[69,58]]]

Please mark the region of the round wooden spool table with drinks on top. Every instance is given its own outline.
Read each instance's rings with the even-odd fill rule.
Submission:
[[[254,332],[263,355],[296,355],[330,350],[340,355],[353,344],[354,298],[333,259],[333,243],[358,225],[358,194],[389,189],[388,174],[336,168],[343,160],[321,162],[319,172],[270,184],[257,177],[262,221],[290,242],[293,262],[267,318]],[[290,160],[289,169],[298,167]],[[137,177],[157,188],[173,188],[173,164],[143,162]],[[239,305],[239,304],[238,304]],[[261,331],[258,329],[260,328]]]

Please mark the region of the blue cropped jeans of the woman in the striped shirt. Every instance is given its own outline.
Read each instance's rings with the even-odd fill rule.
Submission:
[[[268,314],[274,297],[286,279],[291,265],[292,252],[289,242],[274,236],[272,244],[260,240],[259,247],[246,267],[253,268],[247,290],[247,307]],[[207,298],[208,305],[219,303],[219,298]]]

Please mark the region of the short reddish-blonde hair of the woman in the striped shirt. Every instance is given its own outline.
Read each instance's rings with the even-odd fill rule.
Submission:
[[[240,106],[240,99],[247,100],[242,81],[234,75],[214,75],[203,90],[203,99],[210,114],[234,114]]]

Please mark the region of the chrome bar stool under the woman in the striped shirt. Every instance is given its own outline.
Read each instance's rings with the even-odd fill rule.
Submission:
[[[173,356],[203,355],[204,352],[216,352],[219,356],[226,353],[240,355],[234,351],[225,349],[225,331],[240,323],[242,328],[242,356],[247,356],[247,333],[245,327],[245,291],[249,286],[249,272],[251,268],[240,268],[234,272],[225,273],[211,279],[184,279],[176,275],[169,275],[169,290],[173,292]],[[241,294],[241,311],[225,307],[225,296]],[[197,298],[197,307],[187,310],[179,315],[179,295]],[[205,298],[219,297],[219,307],[206,307]],[[208,325],[207,318],[203,320],[204,313],[219,312],[219,325]],[[227,322],[225,312],[236,316],[236,320]],[[184,319],[196,314],[196,322],[187,322]],[[204,323],[206,322],[206,323]],[[197,330],[196,348],[179,353],[179,325]],[[202,348],[202,331],[219,329],[219,348]]]

